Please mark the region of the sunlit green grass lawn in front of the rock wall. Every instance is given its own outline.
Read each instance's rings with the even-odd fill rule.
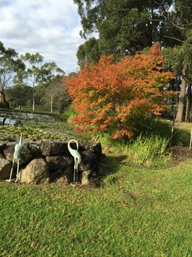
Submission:
[[[191,256],[192,160],[106,162],[102,188],[0,183],[1,256]]]

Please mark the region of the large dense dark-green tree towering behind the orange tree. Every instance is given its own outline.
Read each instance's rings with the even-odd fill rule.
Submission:
[[[173,0],[74,0],[74,3],[78,5],[81,17],[83,31],[80,35],[87,39],[93,32],[99,34],[98,40],[92,38],[91,42],[88,40],[79,47],[77,58],[80,66],[83,55],[86,61],[93,63],[95,56],[103,54],[113,54],[119,61],[127,54],[151,47],[153,42],[159,42],[163,47],[181,44],[175,40],[176,36],[182,39],[181,31],[170,27],[161,15],[162,7],[171,10]],[[86,48],[89,49],[89,58]]]

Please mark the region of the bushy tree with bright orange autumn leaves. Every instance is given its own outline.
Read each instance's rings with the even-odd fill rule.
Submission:
[[[166,108],[164,99],[173,94],[163,88],[175,77],[162,69],[162,63],[155,44],[148,54],[136,53],[118,63],[103,56],[97,65],[85,66],[68,79],[77,130],[132,137],[138,119],[147,113],[160,115]]]

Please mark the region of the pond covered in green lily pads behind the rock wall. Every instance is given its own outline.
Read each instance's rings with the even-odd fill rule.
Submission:
[[[0,143],[15,143],[20,134],[24,142],[38,145],[42,139],[89,140],[90,136],[74,130],[74,125],[54,116],[21,112],[0,112]]]

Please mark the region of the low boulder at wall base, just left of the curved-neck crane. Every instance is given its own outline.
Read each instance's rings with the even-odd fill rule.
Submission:
[[[58,177],[54,179],[57,184],[69,185],[73,182],[74,169],[72,167],[68,167],[66,170],[58,170],[55,173],[62,172]]]

